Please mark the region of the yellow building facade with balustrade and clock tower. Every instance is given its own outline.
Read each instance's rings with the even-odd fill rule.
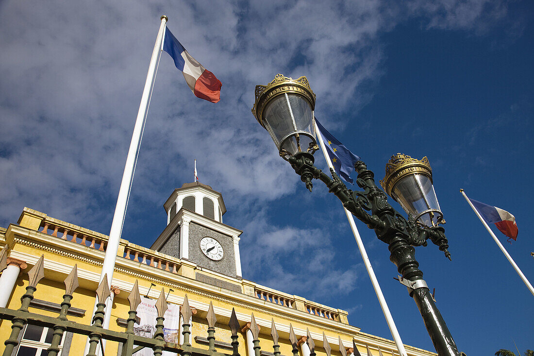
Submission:
[[[301,356],[309,356],[310,352],[305,343],[307,330],[315,341],[315,352],[319,356],[327,355],[324,336],[335,356],[342,355],[339,338],[349,355],[398,355],[392,340],[366,334],[359,327],[351,326],[348,313],[341,309],[291,295],[288,290],[274,290],[243,279],[239,257],[241,231],[224,225],[222,216],[226,208],[222,195],[208,185],[184,184],[171,194],[164,207],[168,225],[151,248],[130,243],[127,239],[120,241],[112,280],[112,309],[111,313],[107,312],[108,325],[105,324],[107,329],[125,331],[130,310],[127,298],[137,281],[140,295],[153,301],[158,299],[162,289],[169,305],[182,305],[187,295],[193,312],[191,344],[200,349],[208,349],[206,318],[212,303],[217,319],[218,351],[226,354],[232,353],[228,324],[234,308],[241,326],[238,341],[242,356],[254,356],[248,329],[252,314],[260,327],[258,339],[262,356],[272,356],[272,321],[280,336],[278,343],[284,356],[293,354],[289,341],[290,325],[301,340]],[[20,307],[20,297],[28,285],[27,271],[43,255],[44,278],[37,286],[29,311],[57,317],[65,293],[64,280],[77,265],[80,285],[73,293],[67,318],[91,324],[107,241],[107,235],[25,207],[17,223],[0,229],[0,243],[5,246],[7,254],[7,268],[0,276],[0,294],[5,305],[0,307]],[[0,347],[10,337],[11,325],[11,321],[1,320]],[[48,354],[46,348],[50,345],[50,336],[51,330],[27,326],[20,333],[12,354]],[[84,355],[86,343],[87,336],[66,332],[62,337],[60,355]],[[416,347],[405,347],[410,356],[436,355]],[[106,342],[105,354],[120,355],[121,344]]]

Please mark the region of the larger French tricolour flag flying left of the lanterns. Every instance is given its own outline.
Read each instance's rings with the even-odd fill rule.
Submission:
[[[221,100],[221,81],[191,57],[167,27],[165,28],[163,50],[174,59],[176,68],[182,71],[187,85],[197,98],[212,103]]]

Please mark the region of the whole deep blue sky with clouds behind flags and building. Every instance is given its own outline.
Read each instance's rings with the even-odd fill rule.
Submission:
[[[250,113],[256,84],[305,75],[321,123],[378,179],[392,154],[429,158],[453,261],[434,245],[416,257],[459,349],[533,349],[533,297],[459,192],[515,215],[517,242],[497,234],[534,282],[532,10],[484,0],[3,1],[0,225],[28,206],[109,233],[167,14],[222,81],[221,102],[195,98],[163,53],[123,238],[152,244],[196,158],[200,181],[224,196],[224,222],[244,230],[245,278],[345,309],[351,324],[390,338],[339,201],[320,182],[310,194]],[[387,246],[357,225],[403,342],[433,350]]]

